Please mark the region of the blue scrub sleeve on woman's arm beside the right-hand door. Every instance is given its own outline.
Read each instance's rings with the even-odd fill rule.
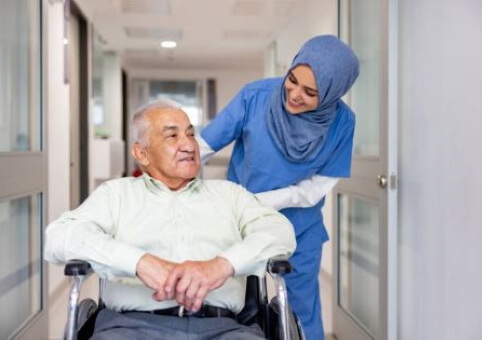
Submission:
[[[342,134],[339,143],[328,157],[325,165],[317,172],[321,176],[350,177],[355,124],[350,124]]]

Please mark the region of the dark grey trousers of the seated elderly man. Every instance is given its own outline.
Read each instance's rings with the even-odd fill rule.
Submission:
[[[265,339],[257,325],[244,326],[231,318],[197,318],[142,312],[100,311],[93,340],[259,340]]]

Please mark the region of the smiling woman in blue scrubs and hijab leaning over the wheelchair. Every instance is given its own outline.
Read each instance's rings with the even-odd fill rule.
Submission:
[[[339,39],[314,37],[284,78],[245,85],[201,132],[204,161],[235,141],[228,179],[294,225],[294,271],[285,279],[308,340],[324,338],[318,273],[328,235],[321,208],[338,179],[350,176],[355,116],[340,98],[358,68]]]

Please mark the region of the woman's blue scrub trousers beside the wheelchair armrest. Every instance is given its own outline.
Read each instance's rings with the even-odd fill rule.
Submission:
[[[318,275],[323,244],[313,245],[310,233],[297,237],[290,261],[294,270],[285,276],[288,300],[298,316],[307,340],[324,340]]]

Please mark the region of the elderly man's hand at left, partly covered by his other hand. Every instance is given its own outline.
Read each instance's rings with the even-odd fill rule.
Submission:
[[[137,262],[136,275],[149,288],[154,290],[152,298],[157,301],[172,299],[166,294],[165,283],[176,263],[145,254]]]

